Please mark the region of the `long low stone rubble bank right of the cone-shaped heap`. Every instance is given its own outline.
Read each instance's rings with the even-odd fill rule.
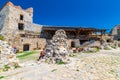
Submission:
[[[87,41],[75,52],[97,52],[101,50],[112,50],[120,48],[120,41],[102,42],[102,41]]]

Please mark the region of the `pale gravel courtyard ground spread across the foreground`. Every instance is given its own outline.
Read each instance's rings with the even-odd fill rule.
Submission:
[[[79,53],[66,65],[27,61],[0,73],[1,80],[120,80],[120,49]]]

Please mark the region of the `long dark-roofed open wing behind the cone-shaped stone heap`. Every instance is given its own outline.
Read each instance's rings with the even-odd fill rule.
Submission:
[[[43,26],[41,37],[49,40],[55,34],[55,31],[63,29],[66,32],[69,47],[80,47],[83,43],[91,40],[103,40],[106,35],[106,29],[68,27],[68,26]],[[107,39],[106,39],[107,40]]]

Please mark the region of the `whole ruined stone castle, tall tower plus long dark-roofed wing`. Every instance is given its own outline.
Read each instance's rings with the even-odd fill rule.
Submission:
[[[34,24],[33,8],[24,10],[11,2],[0,10],[0,21],[0,33],[10,45],[21,51],[44,48],[46,41],[49,44],[59,29],[66,32],[69,47],[78,47],[90,40],[102,40],[106,36],[105,29]]]

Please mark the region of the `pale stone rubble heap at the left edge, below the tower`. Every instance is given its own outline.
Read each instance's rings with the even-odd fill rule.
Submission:
[[[18,66],[18,59],[13,48],[5,41],[0,40],[0,70],[5,68],[14,69]]]

